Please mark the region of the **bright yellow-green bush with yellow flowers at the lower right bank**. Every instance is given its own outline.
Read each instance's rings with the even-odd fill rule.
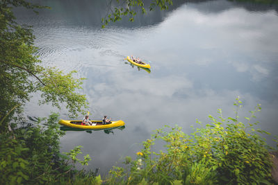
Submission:
[[[261,137],[266,133],[252,123],[260,105],[251,112],[247,123],[238,121],[241,101],[237,98],[235,118],[219,116],[211,123],[184,134],[181,127],[155,131],[142,143],[136,160],[127,168],[113,167],[107,184],[272,184],[269,150]],[[167,131],[166,131],[167,130]],[[170,131],[169,131],[170,130]],[[156,139],[165,141],[165,150],[152,152]]]

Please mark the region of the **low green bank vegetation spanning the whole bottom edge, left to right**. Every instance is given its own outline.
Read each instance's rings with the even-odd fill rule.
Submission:
[[[240,100],[235,105],[240,108]],[[271,150],[261,134],[269,134],[252,121],[260,105],[245,117],[224,118],[218,109],[211,123],[185,134],[181,127],[155,130],[142,143],[137,158],[125,157],[124,167],[113,166],[108,176],[97,171],[76,170],[88,165],[90,156],[77,158],[81,146],[60,153],[59,139],[65,132],[58,114],[23,124],[14,132],[0,134],[1,184],[273,184]],[[237,115],[237,114],[236,114]],[[157,140],[165,143],[159,152]],[[277,148],[276,148],[277,150]]]

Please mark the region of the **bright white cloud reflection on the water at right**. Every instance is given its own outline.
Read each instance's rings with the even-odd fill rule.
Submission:
[[[206,117],[217,115],[218,108],[224,116],[234,116],[232,103],[238,95],[244,102],[239,115],[247,116],[261,103],[258,121],[276,134],[277,21],[271,11],[233,8],[206,15],[183,6],[160,25],[134,31],[132,39],[119,43],[118,53],[152,60],[152,73],[139,73],[120,63],[105,77],[99,71],[106,79],[92,82],[94,90],[88,89],[92,106],[126,121],[121,133],[126,148],[165,124],[190,132],[195,118],[208,123]],[[134,152],[132,148],[128,153]]]

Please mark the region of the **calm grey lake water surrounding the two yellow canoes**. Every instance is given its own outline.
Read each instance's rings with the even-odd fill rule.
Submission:
[[[42,1],[43,2],[43,1]],[[124,130],[67,131],[62,151],[83,146],[92,157],[88,168],[101,175],[122,157],[136,156],[142,141],[163,125],[179,125],[186,133],[208,123],[208,114],[234,116],[237,96],[243,101],[239,116],[256,114],[263,130],[278,133],[278,16],[277,7],[229,1],[177,1],[167,12],[126,19],[101,29],[105,1],[46,1],[52,10],[36,16],[17,10],[18,19],[33,24],[42,64],[85,77],[91,118],[105,114],[123,120]],[[152,66],[151,73],[126,64],[136,55]],[[57,111],[39,107],[34,96],[28,116]],[[65,108],[60,118],[67,119]],[[80,115],[79,119],[83,118]]]

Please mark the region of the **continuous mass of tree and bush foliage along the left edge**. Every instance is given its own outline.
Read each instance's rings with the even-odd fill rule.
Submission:
[[[20,124],[19,115],[33,93],[41,95],[40,103],[58,108],[65,103],[72,115],[86,104],[85,96],[76,93],[83,78],[75,79],[75,71],[63,74],[56,68],[42,67],[34,54],[33,30],[17,24],[12,11],[15,7],[34,12],[46,8],[25,0],[0,1],[0,184],[71,184],[79,177],[92,182],[95,174],[74,170],[67,157],[60,155],[63,132],[57,114],[43,124]],[[88,160],[90,157],[80,162],[88,164]]]

